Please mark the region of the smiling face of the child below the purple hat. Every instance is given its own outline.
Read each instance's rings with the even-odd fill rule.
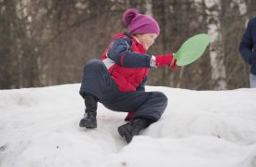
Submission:
[[[138,39],[139,43],[141,43],[146,50],[155,43],[156,37],[156,33],[136,34],[136,38]]]

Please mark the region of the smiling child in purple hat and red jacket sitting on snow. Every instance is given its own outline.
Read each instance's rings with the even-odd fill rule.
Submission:
[[[156,57],[146,54],[160,32],[155,19],[131,8],[125,11],[122,21],[128,32],[117,33],[101,60],[89,60],[84,68],[79,93],[85,99],[86,114],[79,125],[97,127],[98,102],[107,109],[129,112],[131,121],[117,128],[129,143],[134,135],[158,121],[168,105],[163,93],[145,92],[149,69],[164,66],[175,69],[177,65],[171,54]]]

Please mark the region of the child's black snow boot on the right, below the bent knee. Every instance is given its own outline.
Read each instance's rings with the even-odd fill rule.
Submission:
[[[134,135],[139,135],[141,130],[151,124],[150,120],[137,118],[132,122],[123,124],[117,128],[118,134],[129,143]]]

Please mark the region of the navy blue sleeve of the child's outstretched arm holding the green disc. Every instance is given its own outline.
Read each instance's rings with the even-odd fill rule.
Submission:
[[[152,56],[132,52],[131,45],[132,41],[129,38],[117,38],[109,46],[107,57],[123,67],[150,68],[150,59]]]

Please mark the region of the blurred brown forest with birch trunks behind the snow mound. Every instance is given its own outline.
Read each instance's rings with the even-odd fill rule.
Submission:
[[[176,71],[152,69],[147,84],[193,90],[249,87],[238,52],[255,0],[0,0],[0,89],[80,83],[84,64],[101,53],[130,7],[153,16],[161,34],[153,55],[176,52],[209,33],[202,58]]]

